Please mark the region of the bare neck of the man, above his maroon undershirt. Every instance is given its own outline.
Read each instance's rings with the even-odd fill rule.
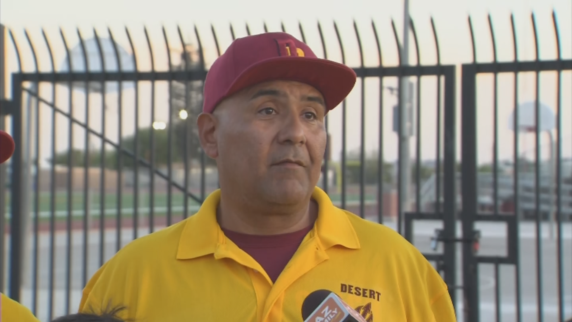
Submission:
[[[239,203],[238,205],[236,203]],[[318,205],[308,200],[293,207],[256,207],[221,195],[217,207],[217,220],[224,229],[251,235],[278,235],[292,233],[313,225],[318,213]]]

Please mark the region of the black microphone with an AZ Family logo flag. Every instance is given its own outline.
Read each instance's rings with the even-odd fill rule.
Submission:
[[[331,290],[315,290],[302,303],[304,322],[366,322]]]

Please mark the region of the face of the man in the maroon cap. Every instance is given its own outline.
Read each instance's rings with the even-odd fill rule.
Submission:
[[[284,205],[308,198],[320,177],[325,113],[310,85],[271,81],[201,115],[201,144],[217,160],[221,189]]]

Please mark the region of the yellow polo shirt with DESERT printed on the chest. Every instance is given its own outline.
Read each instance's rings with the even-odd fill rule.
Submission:
[[[84,289],[80,311],[124,305],[145,322],[299,322],[306,296],[336,292],[368,322],[454,322],[442,278],[394,230],[332,205],[316,188],[313,229],[275,283],[225,237],[220,191],[188,219],[136,239]]]

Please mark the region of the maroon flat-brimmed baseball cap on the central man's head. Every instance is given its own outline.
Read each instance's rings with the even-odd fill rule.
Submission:
[[[272,80],[311,85],[324,96],[328,111],[356,83],[353,69],[317,58],[312,49],[287,33],[263,33],[233,41],[206,74],[202,111],[212,113],[227,97]]]

